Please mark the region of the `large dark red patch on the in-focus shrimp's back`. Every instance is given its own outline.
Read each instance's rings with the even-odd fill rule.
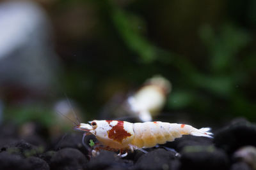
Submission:
[[[108,138],[113,139],[119,143],[122,143],[123,139],[131,136],[124,129],[124,121],[118,121],[118,123],[108,131]]]

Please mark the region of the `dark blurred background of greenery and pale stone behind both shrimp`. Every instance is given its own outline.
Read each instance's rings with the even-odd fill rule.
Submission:
[[[154,120],[255,122],[255,33],[253,0],[0,1],[0,121],[118,118],[159,74],[172,92]]]

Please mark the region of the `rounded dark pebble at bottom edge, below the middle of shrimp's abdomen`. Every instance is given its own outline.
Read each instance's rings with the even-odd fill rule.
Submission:
[[[158,148],[142,155],[136,162],[134,169],[178,169],[179,160],[175,152]]]

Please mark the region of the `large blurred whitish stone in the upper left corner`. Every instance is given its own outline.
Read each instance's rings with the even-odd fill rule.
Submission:
[[[30,1],[0,3],[0,87],[51,88],[58,60],[51,25]]]

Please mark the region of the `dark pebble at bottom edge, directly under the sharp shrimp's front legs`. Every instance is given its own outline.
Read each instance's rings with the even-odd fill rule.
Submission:
[[[88,162],[88,169],[127,169],[132,165],[131,160],[120,159],[115,152],[101,150],[97,157]]]

